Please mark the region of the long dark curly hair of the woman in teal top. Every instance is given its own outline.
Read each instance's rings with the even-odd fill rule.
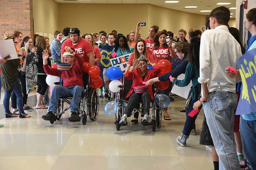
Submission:
[[[196,68],[199,68],[199,52],[200,37],[194,37],[188,45],[188,62]]]

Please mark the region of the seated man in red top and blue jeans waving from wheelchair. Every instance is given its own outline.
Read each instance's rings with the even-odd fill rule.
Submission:
[[[52,89],[52,97],[50,99],[48,113],[43,115],[44,120],[56,121],[55,113],[58,109],[58,100],[60,97],[73,97],[70,104],[70,120],[77,120],[79,117],[79,102],[84,93],[83,82],[83,60],[68,46],[65,46],[65,53],[63,54],[64,62],[70,63],[70,70],[60,71],[57,68],[51,68],[47,64],[49,57],[48,51],[43,52],[44,71],[47,74],[58,76],[62,79],[62,86],[54,86]]]

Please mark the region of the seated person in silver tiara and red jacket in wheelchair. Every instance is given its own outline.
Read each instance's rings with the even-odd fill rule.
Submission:
[[[119,125],[127,125],[127,117],[131,116],[134,106],[138,102],[143,103],[144,117],[141,124],[148,124],[148,114],[150,109],[150,100],[154,100],[154,94],[152,91],[152,85],[148,86],[148,91],[144,93],[135,93],[133,87],[145,86],[146,81],[155,78],[160,73],[160,68],[157,65],[153,65],[150,60],[146,59],[143,55],[138,60],[133,60],[132,68],[128,70],[125,77],[128,80],[133,80],[132,87],[125,96],[125,99],[129,99],[124,111],[123,117],[119,122]],[[148,70],[147,66],[150,65],[154,69]]]

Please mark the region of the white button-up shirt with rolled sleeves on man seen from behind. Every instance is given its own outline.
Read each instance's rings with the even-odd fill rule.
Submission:
[[[208,83],[209,92],[216,91],[217,82],[220,82],[225,91],[235,93],[236,80],[225,74],[225,68],[237,68],[236,61],[241,56],[241,46],[229,33],[227,26],[206,30],[201,36],[198,82]]]

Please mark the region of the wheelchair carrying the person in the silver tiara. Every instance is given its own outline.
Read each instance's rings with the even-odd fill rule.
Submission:
[[[130,88],[132,86],[132,80],[128,80],[125,78],[125,74],[123,76],[123,85],[119,85],[119,91],[116,94],[116,102],[117,102],[117,112],[116,112],[116,121],[115,121],[115,125],[116,125],[116,130],[119,131],[120,130],[120,124],[119,121],[121,119],[121,117],[124,114],[124,110],[126,108],[126,105],[128,103],[128,100],[126,100],[124,97],[126,96],[126,94],[129,92]],[[153,90],[153,94],[156,97],[156,86],[155,84],[152,85],[152,90]],[[162,124],[162,108],[160,106],[157,105],[156,101],[155,101],[155,97],[154,100],[151,100],[150,102],[150,109],[151,109],[151,116],[148,115],[148,119],[149,119],[149,123],[148,124],[143,124],[143,125],[151,125],[152,126],[152,130],[156,131],[156,126],[160,127]],[[140,102],[139,102],[140,103]],[[142,104],[142,103],[140,103]],[[143,106],[141,106],[139,109],[134,108],[132,112],[132,115],[136,112],[139,112],[140,114],[143,114]],[[150,117],[149,117],[150,116]],[[127,124],[126,124],[127,125]]]

